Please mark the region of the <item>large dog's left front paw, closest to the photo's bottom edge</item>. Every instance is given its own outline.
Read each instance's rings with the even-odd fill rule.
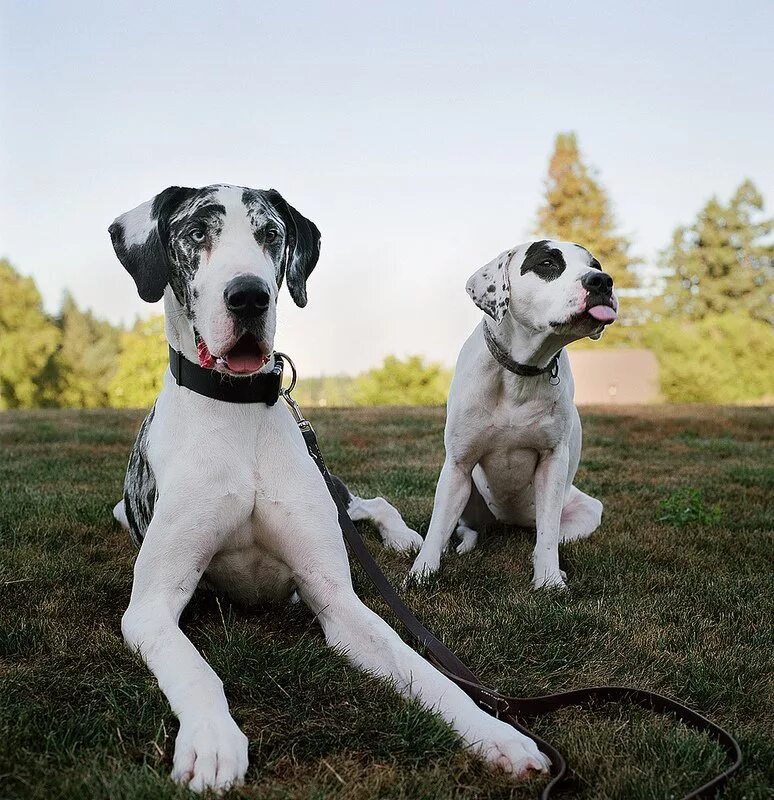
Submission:
[[[240,786],[247,772],[247,737],[229,716],[181,720],[172,780],[193,792]]]

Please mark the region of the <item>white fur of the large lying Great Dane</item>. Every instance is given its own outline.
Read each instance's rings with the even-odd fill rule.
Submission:
[[[268,279],[236,203],[234,213],[226,249],[214,252],[200,268],[210,274],[197,278],[196,325],[208,343],[217,340],[224,283],[237,272]],[[169,290],[165,310],[171,343],[195,361],[191,324]],[[265,369],[271,367],[270,361]],[[283,403],[211,400],[178,387],[167,372],[148,431],[148,460],[158,499],[122,630],[180,720],[176,781],[195,791],[221,790],[242,783],[247,770],[247,739],[223,685],[178,626],[203,577],[244,603],[287,601],[297,590],[331,647],[440,713],[487,761],[516,775],[548,768],[532,740],[479,709],[357,597],[335,505]],[[353,516],[372,519],[388,545],[409,549],[421,541],[385,501],[354,498],[352,505]],[[125,514],[116,516],[126,524]]]

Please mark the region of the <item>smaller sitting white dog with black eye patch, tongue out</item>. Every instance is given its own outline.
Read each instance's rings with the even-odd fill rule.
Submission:
[[[563,588],[559,542],[590,536],[602,503],[573,486],[581,424],[562,348],[616,319],[613,279],[585,248],[543,240],[501,253],[466,288],[487,316],[457,360],[446,459],[411,574],[438,570],[455,529],[465,553],[478,527],[499,521],[537,528],[533,585]]]

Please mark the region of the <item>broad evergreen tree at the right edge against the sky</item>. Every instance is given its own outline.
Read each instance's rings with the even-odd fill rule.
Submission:
[[[774,324],[774,243],[766,241],[772,231],[774,220],[763,216],[751,181],[728,204],[711,198],[661,255],[668,277],[660,310],[691,320],[745,312]]]

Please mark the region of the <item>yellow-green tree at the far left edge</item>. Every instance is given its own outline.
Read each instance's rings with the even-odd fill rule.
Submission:
[[[29,408],[60,333],[43,311],[35,281],[6,259],[0,259],[0,297],[0,408]]]

